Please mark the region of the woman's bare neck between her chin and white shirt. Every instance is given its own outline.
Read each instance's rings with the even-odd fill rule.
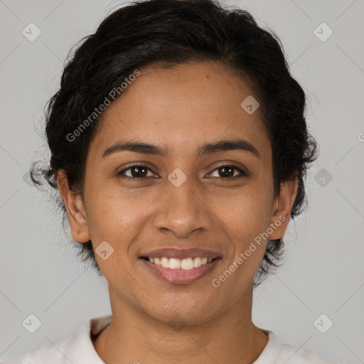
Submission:
[[[214,319],[197,325],[171,326],[153,319],[109,287],[112,323],[94,341],[107,364],[253,363],[268,336],[251,319],[250,295]],[[117,302],[117,304],[115,304]]]

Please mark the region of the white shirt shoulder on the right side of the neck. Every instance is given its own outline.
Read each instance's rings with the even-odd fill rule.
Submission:
[[[310,350],[280,343],[272,331],[265,332],[269,341],[254,364],[336,364]]]

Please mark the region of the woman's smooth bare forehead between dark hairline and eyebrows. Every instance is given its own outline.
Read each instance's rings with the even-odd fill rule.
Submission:
[[[241,106],[247,97],[258,96],[233,70],[205,62],[139,71],[103,112],[90,146],[97,154],[119,139],[165,146],[172,155],[193,153],[206,141],[240,138],[269,157],[259,108],[248,114]]]

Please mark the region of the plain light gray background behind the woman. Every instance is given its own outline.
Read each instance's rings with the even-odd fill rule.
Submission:
[[[48,196],[23,176],[44,158],[36,129],[68,50],[117,4],[0,0],[0,360],[111,312],[105,279],[75,260]],[[309,206],[289,224],[284,267],[255,291],[255,323],[338,363],[364,363],[364,2],[228,4],[247,9],[282,40],[321,149],[307,180]],[[22,34],[31,22],[42,31],[32,43]],[[333,30],[324,42],[314,34],[322,22]],[[33,334],[21,324],[29,314],[42,322]],[[314,326],[321,314],[333,321],[326,333]],[[322,330],[328,319],[319,323]]]

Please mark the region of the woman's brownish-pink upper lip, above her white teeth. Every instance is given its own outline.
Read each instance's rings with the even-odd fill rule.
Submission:
[[[155,250],[149,250],[143,252],[140,257],[168,257],[176,259],[196,258],[196,257],[207,257],[207,258],[218,258],[220,255],[217,252],[211,250],[200,249],[198,247],[192,247],[188,249],[179,249],[176,247],[166,247]]]

